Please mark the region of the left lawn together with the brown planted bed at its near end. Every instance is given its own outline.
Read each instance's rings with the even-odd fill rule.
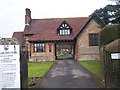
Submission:
[[[28,86],[36,85],[45,77],[54,62],[28,63]]]

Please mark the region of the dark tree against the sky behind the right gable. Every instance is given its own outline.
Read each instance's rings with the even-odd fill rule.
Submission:
[[[116,5],[107,5],[104,8],[95,10],[95,13],[106,24],[120,23],[120,1],[116,0]]]

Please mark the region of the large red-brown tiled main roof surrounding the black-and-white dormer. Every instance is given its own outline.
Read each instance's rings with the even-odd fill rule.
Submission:
[[[73,40],[91,17],[32,19],[31,25],[25,26],[24,34],[33,34],[29,41],[40,40]],[[70,36],[59,36],[57,29],[63,21],[72,27]]]

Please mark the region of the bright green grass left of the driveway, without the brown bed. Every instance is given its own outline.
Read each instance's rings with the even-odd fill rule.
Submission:
[[[43,78],[52,65],[53,62],[28,63],[28,78]]]

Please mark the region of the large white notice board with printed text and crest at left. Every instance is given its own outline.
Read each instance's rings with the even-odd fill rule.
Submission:
[[[0,45],[0,90],[20,89],[19,45]]]

